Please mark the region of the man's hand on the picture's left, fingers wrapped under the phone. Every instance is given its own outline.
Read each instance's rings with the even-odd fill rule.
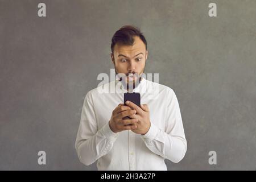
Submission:
[[[137,129],[138,119],[123,119],[129,115],[136,114],[136,110],[131,109],[129,106],[119,104],[112,112],[111,119],[109,121],[109,127],[114,133],[118,133],[123,130]]]

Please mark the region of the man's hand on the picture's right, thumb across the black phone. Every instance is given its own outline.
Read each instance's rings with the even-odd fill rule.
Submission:
[[[137,114],[130,115],[130,118],[138,119],[137,128],[131,129],[134,133],[144,135],[150,129],[150,110],[146,104],[141,105],[141,107],[137,106],[131,101],[126,101],[125,104],[130,106],[131,109],[137,111]]]

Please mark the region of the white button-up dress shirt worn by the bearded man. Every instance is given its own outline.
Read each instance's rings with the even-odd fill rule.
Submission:
[[[101,88],[116,89],[119,83],[112,81]],[[165,171],[164,159],[174,163],[183,159],[187,140],[174,90],[144,78],[133,90],[141,93],[141,104],[150,109],[150,129],[141,135],[131,130],[114,133],[109,127],[112,111],[127,92],[122,84],[121,92],[102,93],[99,88],[86,94],[82,106],[75,143],[81,163],[89,166],[97,160],[98,170]]]

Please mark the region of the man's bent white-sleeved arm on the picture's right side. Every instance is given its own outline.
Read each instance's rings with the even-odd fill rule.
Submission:
[[[151,123],[150,129],[145,135],[142,135],[142,139],[152,152],[178,163],[184,158],[187,151],[187,140],[185,139],[179,103],[173,90],[170,90],[170,96],[165,131]]]

